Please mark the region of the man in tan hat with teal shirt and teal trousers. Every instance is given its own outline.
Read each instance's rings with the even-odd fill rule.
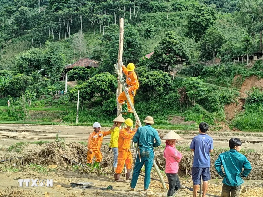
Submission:
[[[153,118],[147,116],[143,121],[146,123],[144,127],[139,127],[132,141],[138,143],[140,149],[141,161],[139,155],[137,155],[136,162],[134,165],[133,176],[131,179],[131,190],[134,190],[141,168],[145,163],[145,177],[144,177],[144,190],[147,190],[151,181],[151,168],[153,166],[154,154],[153,147],[158,147],[161,145],[161,139],[158,135],[156,129],[151,127],[154,124]],[[155,143],[154,143],[155,139]]]

